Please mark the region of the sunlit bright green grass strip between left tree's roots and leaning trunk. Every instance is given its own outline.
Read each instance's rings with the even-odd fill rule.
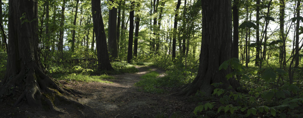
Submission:
[[[57,79],[58,80],[67,80],[67,81],[82,81],[82,82],[96,81],[96,82],[102,82],[102,83],[113,83],[111,81],[107,81],[104,79],[114,79],[114,77],[106,75],[106,74],[90,76],[90,75],[82,75],[82,74],[73,73],[73,74],[61,76],[60,78],[57,78]]]

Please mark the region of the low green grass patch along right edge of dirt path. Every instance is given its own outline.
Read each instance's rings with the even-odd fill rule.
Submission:
[[[142,78],[142,80],[135,83],[135,86],[142,87],[144,92],[163,93],[164,92],[163,89],[155,88],[155,87],[160,87],[158,82],[159,82],[159,79],[161,79],[161,78],[157,78],[158,76],[159,76],[158,72],[155,72],[155,71],[142,75],[140,77],[140,78]]]

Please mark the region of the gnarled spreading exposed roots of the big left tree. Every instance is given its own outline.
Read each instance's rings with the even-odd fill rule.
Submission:
[[[64,113],[56,107],[62,103],[79,108],[88,107],[65,97],[81,97],[79,95],[82,94],[81,92],[65,88],[55,79],[45,75],[37,66],[32,69],[22,69],[15,77],[5,78],[1,85],[0,98],[17,98],[14,106],[26,100],[31,107],[49,109],[58,113]]]

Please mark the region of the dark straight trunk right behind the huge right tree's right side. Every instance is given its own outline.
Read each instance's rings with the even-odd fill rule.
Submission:
[[[232,57],[239,59],[239,9],[238,9],[238,1],[234,0],[234,6],[232,7],[232,15],[233,15],[233,26],[234,26],[234,35],[232,41]]]

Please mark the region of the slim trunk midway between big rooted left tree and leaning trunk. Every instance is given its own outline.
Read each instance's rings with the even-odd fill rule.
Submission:
[[[65,11],[65,0],[63,0],[62,4],[62,10],[61,10],[61,23],[60,23],[60,32],[59,32],[59,42],[58,42],[58,51],[60,53],[60,56],[62,58],[63,56],[63,37],[64,37],[64,11]]]

